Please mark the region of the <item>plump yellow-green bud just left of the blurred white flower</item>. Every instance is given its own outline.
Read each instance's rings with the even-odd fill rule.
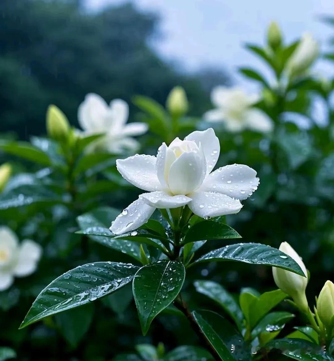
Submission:
[[[50,105],[46,112],[46,130],[50,138],[61,141],[68,138],[70,123],[65,114],[55,105]]]

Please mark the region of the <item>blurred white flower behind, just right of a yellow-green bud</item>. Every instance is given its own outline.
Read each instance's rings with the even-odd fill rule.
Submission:
[[[78,121],[85,135],[105,133],[101,139],[93,143],[94,149],[103,149],[119,154],[124,149],[134,151],[139,143],[133,136],[147,132],[146,123],[129,123],[129,106],[121,99],[114,99],[110,105],[101,96],[87,94],[78,108]]]

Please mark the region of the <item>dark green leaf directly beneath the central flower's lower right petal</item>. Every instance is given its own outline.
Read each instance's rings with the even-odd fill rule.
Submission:
[[[230,226],[216,221],[195,223],[183,237],[182,244],[206,239],[231,239],[241,236]]]

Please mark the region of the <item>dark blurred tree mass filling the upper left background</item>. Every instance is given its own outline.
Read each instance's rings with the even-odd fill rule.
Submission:
[[[44,132],[47,106],[56,104],[76,123],[88,92],[107,101],[135,94],[163,103],[182,85],[192,115],[209,96],[195,77],[178,74],[148,45],[158,17],[132,4],[84,10],[78,0],[3,0],[0,23],[0,131],[21,138]]]

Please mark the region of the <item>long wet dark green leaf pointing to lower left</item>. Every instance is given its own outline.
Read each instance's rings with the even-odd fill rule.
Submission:
[[[117,262],[78,266],[53,280],[37,296],[20,329],[52,314],[109,295],[132,281],[138,267]]]

